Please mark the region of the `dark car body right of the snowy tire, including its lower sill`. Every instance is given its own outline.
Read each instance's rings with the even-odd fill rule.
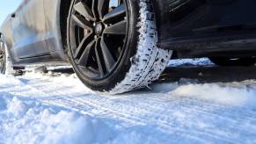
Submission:
[[[176,58],[255,56],[255,5],[253,0],[156,0],[158,46],[176,51]]]

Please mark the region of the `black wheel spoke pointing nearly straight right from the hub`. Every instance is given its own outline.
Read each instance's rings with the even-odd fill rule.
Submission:
[[[104,33],[125,35],[126,31],[127,31],[127,21],[123,20],[117,24],[106,27]]]

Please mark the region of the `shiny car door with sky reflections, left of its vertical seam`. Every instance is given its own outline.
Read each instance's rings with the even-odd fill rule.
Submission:
[[[14,40],[11,54],[15,55],[16,61],[49,55],[46,30],[44,0],[24,0],[11,15]]]

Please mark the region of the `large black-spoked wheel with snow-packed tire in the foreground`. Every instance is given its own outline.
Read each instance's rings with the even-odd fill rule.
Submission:
[[[148,86],[172,54],[156,47],[150,0],[73,0],[67,42],[82,82],[92,90],[111,93]]]

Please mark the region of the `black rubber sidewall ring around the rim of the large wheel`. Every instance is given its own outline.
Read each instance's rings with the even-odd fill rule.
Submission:
[[[113,73],[110,76],[100,81],[92,80],[91,78],[84,76],[83,72],[81,72],[80,69],[77,68],[76,63],[72,58],[71,47],[69,43],[69,21],[70,21],[70,14],[71,14],[74,3],[75,3],[75,0],[72,0],[71,6],[69,8],[69,18],[68,18],[68,26],[67,26],[67,30],[68,30],[67,42],[68,42],[68,49],[69,49],[69,59],[71,61],[71,64],[73,65],[73,68],[78,78],[81,79],[82,82],[92,90],[99,90],[99,91],[112,90],[117,83],[121,83],[121,81],[124,80],[126,74],[131,68],[131,58],[137,52],[137,46],[138,46],[139,35],[140,35],[140,32],[138,31],[139,26],[137,26],[140,20],[139,19],[140,18],[140,13],[139,13],[140,1],[126,0],[127,10],[128,10],[128,35],[127,35],[127,43],[125,46],[125,51],[123,52],[121,56],[121,60],[118,66],[116,66]]]

